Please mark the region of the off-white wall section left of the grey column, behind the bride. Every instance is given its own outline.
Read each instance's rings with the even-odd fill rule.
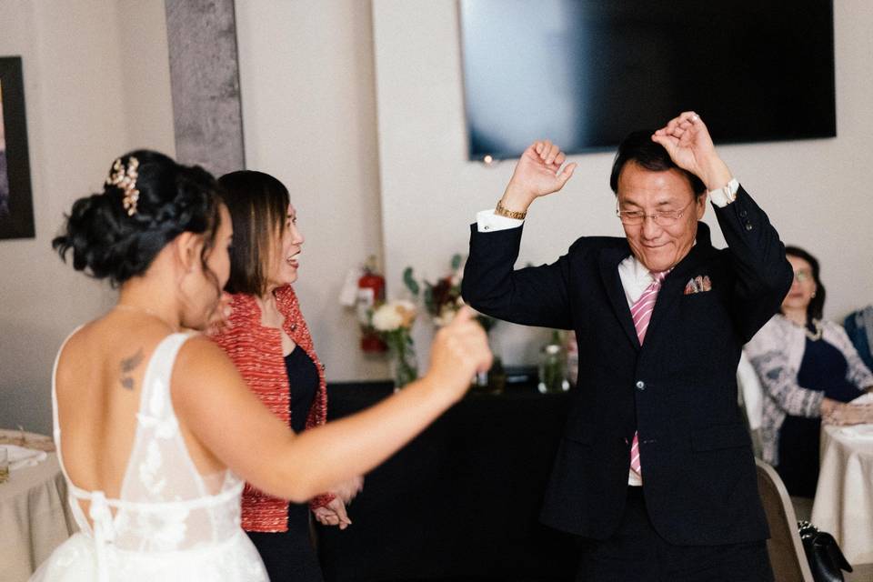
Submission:
[[[0,241],[0,426],[47,433],[55,352],[114,298],[65,266],[51,239],[115,156],[173,154],[164,3],[3,0],[0,55],[24,62],[36,226],[35,239]]]

